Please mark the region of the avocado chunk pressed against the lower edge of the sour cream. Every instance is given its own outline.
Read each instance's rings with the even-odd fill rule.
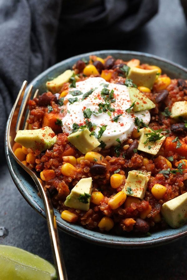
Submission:
[[[73,144],[81,153],[86,154],[100,145],[100,142],[95,136],[90,135],[88,128],[79,129],[68,136],[68,140]]]

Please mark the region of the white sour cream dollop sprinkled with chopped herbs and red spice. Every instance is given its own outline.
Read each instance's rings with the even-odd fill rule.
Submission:
[[[77,92],[79,95],[75,95],[75,91],[79,91]],[[85,97],[85,93],[90,94],[86,94]],[[104,105],[106,103],[109,105]],[[100,77],[76,82],[76,88],[69,89],[69,93],[64,98],[64,104],[67,114],[62,119],[63,132],[69,135],[73,132],[74,123],[82,126],[86,125],[86,120],[96,125],[94,132],[97,135],[101,134],[102,127],[105,126],[106,129],[98,138],[99,142],[103,141],[106,144],[105,148],[119,145],[119,140],[121,143],[127,140],[135,128],[136,117],[145,124],[150,122],[148,110],[137,113],[133,110],[130,110],[130,113],[125,111],[132,105],[125,85],[108,83]],[[84,116],[86,109],[90,109],[87,110],[89,115],[92,112],[89,118]]]

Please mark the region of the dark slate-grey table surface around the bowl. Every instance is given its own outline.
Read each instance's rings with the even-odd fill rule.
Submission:
[[[151,53],[187,67],[187,25],[180,1],[162,0],[159,5],[159,13],[120,48]],[[18,192],[6,164],[1,166],[0,178],[0,244],[21,247],[53,262],[46,220]],[[2,237],[3,227],[7,234]],[[187,279],[187,237],[132,250],[93,245],[64,232],[59,235],[69,280]]]

